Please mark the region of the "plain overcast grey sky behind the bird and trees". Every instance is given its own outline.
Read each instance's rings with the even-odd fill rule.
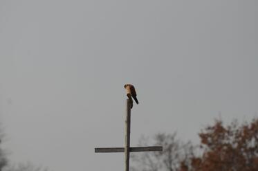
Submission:
[[[258,112],[257,1],[0,0],[0,119],[15,162],[122,170],[125,83],[140,135]]]

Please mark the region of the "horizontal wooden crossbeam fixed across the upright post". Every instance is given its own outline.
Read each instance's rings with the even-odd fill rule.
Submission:
[[[130,152],[157,152],[162,151],[162,146],[149,146],[149,147],[130,147]],[[124,147],[111,147],[111,148],[95,148],[95,152],[125,152]]]

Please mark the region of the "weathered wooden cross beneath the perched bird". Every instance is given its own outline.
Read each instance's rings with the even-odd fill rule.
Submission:
[[[131,125],[131,105],[127,99],[127,110],[125,116],[125,147],[111,147],[111,148],[95,148],[95,152],[125,152],[125,171],[129,171],[129,158],[130,152],[154,152],[162,151],[162,146],[149,146],[149,147],[130,147],[130,125]]]

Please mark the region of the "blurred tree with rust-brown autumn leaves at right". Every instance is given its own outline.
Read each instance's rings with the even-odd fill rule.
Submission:
[[[203,155],[192,157],[191,167],[186,170],[258,170],[258,119],[242,125],[234,121],[227,127],[223,126],[221,120],[216,120],[199,136]]]

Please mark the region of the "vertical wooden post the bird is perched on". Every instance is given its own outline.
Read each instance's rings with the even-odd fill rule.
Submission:
[[[127,111],[125,114],[125,171],[129,171],[130,159],[130,125],[131,125],[131,104],[127,99]]]

